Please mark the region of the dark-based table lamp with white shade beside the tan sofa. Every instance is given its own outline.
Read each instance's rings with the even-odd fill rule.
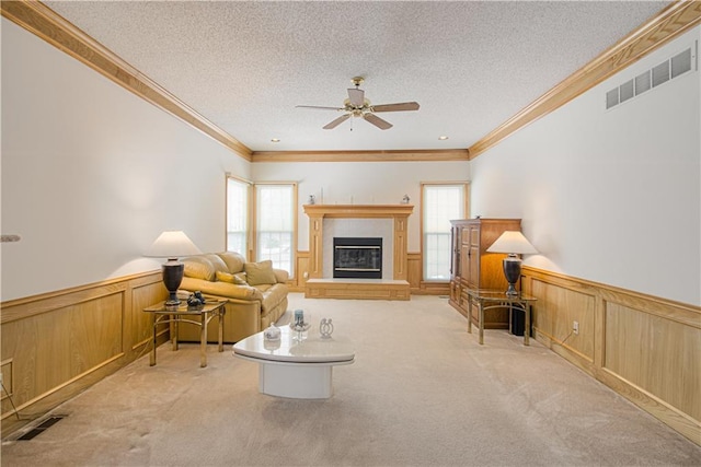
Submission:
[[[183,281],[185,265],[177,260],[182,256],[199,255],[202,252],[182,231],[165,231],[156,238],[145,256],[168,258],[163,264],[163,283],[168,289],[166,306],[180,305],[177,288]]]

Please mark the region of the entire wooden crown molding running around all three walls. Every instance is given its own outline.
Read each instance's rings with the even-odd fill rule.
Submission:
[[[565,105],[612,74],[701,24],[701,1],[680,0],[607,49],[469,149],[398,151],[257,151],[143,75],[88,34],[36,0],[3,0],[2,16],[24,27],[118,85],[180,118],[250,162],[436,162],[473,160],[502,140]]]

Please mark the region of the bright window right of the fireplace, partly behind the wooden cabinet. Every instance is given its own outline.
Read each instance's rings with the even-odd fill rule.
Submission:
[[[450,280],[450,221],[466,213],[466,184],[422,185],[424,280]]]

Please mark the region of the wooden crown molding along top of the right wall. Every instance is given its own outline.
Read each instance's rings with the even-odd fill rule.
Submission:
[[[699,24],[701,1],[681,0],[660,10],[637,30],[472,144],[469,149],[470,160]]]

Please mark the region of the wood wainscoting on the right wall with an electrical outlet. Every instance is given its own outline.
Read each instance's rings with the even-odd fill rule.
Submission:
[[[539,342],[701,445],[701,307],[529,267],[521,287]]]

